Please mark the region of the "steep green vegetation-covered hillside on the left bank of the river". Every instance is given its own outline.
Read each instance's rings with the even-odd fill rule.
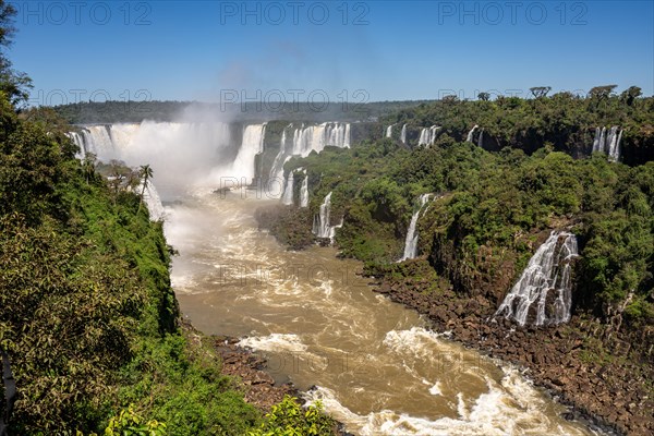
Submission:
[[[19,390],[10,432],[156,435],[166,423],[174,435],[243,435],[257,425],[216,353],[180,330],[170,247],[138,195],[75,160],[52,113],[16,117],[0,100],[0,343]]]

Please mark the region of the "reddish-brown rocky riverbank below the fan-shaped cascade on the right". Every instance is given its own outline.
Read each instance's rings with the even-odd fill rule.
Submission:
[[[375,275],[373,284],[425,315],[436,331],[526,368],[528,377],[570,407],[567,417],[588,419],[618,434],[654,434],[652,360],[642,352],[646,347],[631,346],[633,337],[581,316],[556,327],[519,328],[493,319],[496,306],[485,296],[459,295],[445,280],[429,277],[429,269],[414,261],[405,274]],[[650,340],[646,332],[642,340]]]

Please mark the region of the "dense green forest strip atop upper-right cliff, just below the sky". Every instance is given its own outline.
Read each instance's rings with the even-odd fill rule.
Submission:
[[[574,157],[590,156],[596,128],[616,125],[623,130],[621,161],[639,165],[654,160],[654,98],[643,97],[638,86],[620,93],[615,88],[596,86],[586,96],[558,93],[548,97],[542,93],[534,98],[499,96],[494,100],[482,93],[476,101],[450,96],[380,121],[396,125],[396,138],[407,124],[407,138],[413,145],[422,128],[439,126],[437,143],[451,144],[465,141],[468,132],[477,125],[474,142],[479,144],[483,130],[484,149],[511,147],[532,154],[547,146]]]

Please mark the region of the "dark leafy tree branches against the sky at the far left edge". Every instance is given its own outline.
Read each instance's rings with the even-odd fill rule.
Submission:
[[[0,0],[0,90],[4,92],[11,104],[20,106],[27,101],[32,78],[23,72],[12,69],[11,61],[4,56],[4,48],[11,46],[16,29],[13,27],[15,8]]]

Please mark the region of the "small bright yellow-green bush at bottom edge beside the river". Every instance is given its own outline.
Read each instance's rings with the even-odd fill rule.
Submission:
[[[323,413],[323,404],[302,409],[296,400],[286,396],[266,414],[259,428],[249,432],[249,436],[331,436],[336,422]]]

